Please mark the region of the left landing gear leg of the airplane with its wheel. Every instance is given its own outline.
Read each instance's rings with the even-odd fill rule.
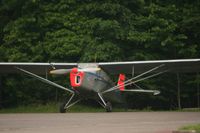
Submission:
[[[68,100],[67,103],[65,102],[65,103],[62,103],[62,104],[60,105],[60,113],[65,113],[66,110],[67,110],[69,107],[71,107],[71,106],[73,106],[73,105],[75,105],[76,103],[78,103],[78,102],[81,101],[81,99],[78,99],[78,100],[76,100],[75,102],[73,102],[73,103],[70,104],[70,102],[71,102],[72,99],[74,98],[74,95],[75,95],[75,94],[72,94],[72,96],[69,98],[69,100]]]

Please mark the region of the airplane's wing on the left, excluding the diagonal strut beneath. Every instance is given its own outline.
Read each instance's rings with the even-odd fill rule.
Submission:
[[[35,74],[45,75],[55,67],[56,69],[70,69],[77,67],[77,63],[28,63],[28,62],[0,62],[0,74],[18,73],[21,68]]]

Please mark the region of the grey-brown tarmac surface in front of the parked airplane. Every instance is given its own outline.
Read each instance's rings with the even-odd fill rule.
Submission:
[[[0,133],[171,133],[200,112],[0,114]]]

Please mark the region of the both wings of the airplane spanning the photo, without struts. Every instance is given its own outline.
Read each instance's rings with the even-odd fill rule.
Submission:
[[[87,64],[87,63],[85,63]],[[93,63],[88,63],[93,64]],[[150,61],[130,61],[130,62],[100,62],[98,64],[103,70],[109,74],[132,74],[143,73],[159,65],[163,67],[154,71],[162,72],[200,72],[200,59],[176,59],[176,60],[150,60]],[[16,67],[31,71],[35,74],[46,74],[52,70],[52,66],[56,69],[70,69],[77,67],[78,63],[20,63],[20,62],[0,62],[0,74],[17,73]]]

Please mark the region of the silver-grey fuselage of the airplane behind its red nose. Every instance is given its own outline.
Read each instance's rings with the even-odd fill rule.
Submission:
[[[99,100],[98,93],[102,93],[105,90],[115,86],[107,73],[103,70],[84,72],[84,76],[80,86],[74,87],[79,95],[84,99]],[[103,95],[106,101],[122,102],[121,92],[115,90]]]

